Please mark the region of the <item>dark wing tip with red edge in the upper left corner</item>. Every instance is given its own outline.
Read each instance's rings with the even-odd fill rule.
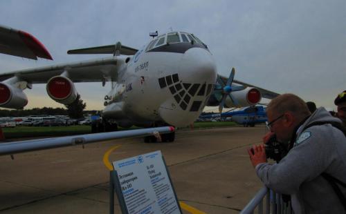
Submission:
[[[0,25],[0,52],[6,55],[36,59],[51,59],[51,55],[38,39],[28,32]]]

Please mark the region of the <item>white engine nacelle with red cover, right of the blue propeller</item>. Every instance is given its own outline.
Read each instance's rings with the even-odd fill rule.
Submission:
[[[255,106],[262,99],[260,90],[258,90],[257,88],[245,88],[244,90],[237,90],[231,93],[232,96],[236,99],[238,105],[233,104],[233,101],[230,99],[230,97],[227,96],[225,106],[227,106],[228,108],[237,106]]]

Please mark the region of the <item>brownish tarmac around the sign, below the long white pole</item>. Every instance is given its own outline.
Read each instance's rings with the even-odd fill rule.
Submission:
[[[239,213],[262,188],[246,148],[264,127],[178,130],[172,143],[118,139],[0,157],[0,213],[109,213],[109,170],[116,161],[161,150],[179,201],[204,213]],[[120,213],[118,200],[115,211]],[[183,211],[183,213],[188,213]]]

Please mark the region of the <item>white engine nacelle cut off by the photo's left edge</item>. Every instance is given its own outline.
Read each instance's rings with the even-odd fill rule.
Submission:
[[[10,84],[0,83],[0,107],[20,109],[26,104],[28,104],[28,97],[23,90]]]

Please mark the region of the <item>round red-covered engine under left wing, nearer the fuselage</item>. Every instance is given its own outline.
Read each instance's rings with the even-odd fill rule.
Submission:
[[[60,104],[68,105],[77,98],[77,90],[71,79],[55,76],[48,80],[46,90],[52,99]]]

